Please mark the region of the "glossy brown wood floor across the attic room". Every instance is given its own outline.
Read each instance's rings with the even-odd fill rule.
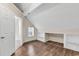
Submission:
[[[79,52],[63,48],[63,44],[31,41],[18,48],[15,56],[79,56]]]

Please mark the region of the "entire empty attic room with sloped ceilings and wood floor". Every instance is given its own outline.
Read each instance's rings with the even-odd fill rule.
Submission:
[[[79,3],[0,3],[0,56],[79,56]]]

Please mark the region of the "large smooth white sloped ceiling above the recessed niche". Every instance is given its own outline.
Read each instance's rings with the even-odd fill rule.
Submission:
[[[24,14],[41,32],[79,34],[78,3],[42,3],[28,15],[26,11]]]

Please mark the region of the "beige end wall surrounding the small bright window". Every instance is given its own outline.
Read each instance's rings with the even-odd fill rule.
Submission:
[[[34,36],[28,37],[28,27],[34,27],[32,23],[26,18],[23,19],[23,42],[28,42],[37,39],[37,29],[34,27]]]

